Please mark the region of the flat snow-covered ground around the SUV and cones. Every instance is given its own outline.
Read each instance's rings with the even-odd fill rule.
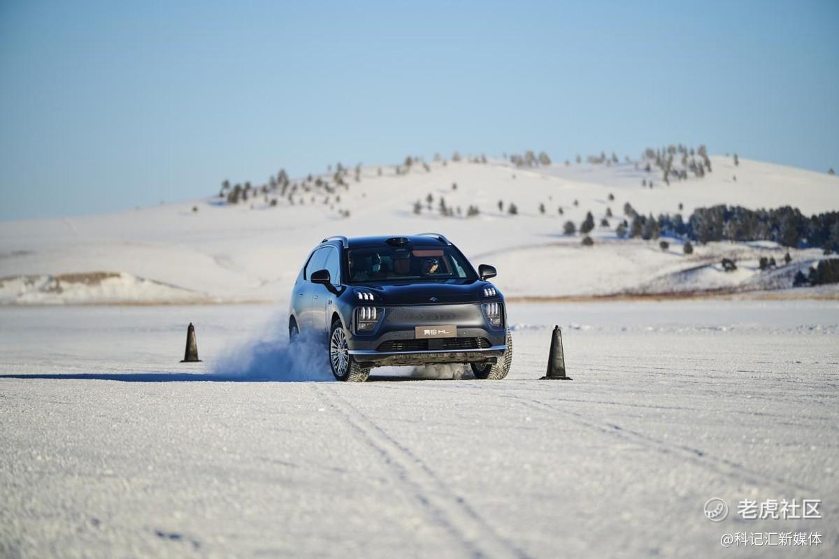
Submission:
[[[349,385],[281,381],[329,375],[277,305],[0,308],[0,556],[837,555],[835,301],[509,316],[507,380]],[[555,323],[570,382],[538,380]],[[821,545],[720,544],[797,531]]]

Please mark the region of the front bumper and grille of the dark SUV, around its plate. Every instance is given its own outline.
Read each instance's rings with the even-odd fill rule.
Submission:
[[[373,332],[351,336],[349,352],[370,367],[495,362],[507,349],[506,322],[504,316],[502,326],[492,328],[480,303],[388,307]],[[449,324],[457,328],[455,339],[414,336],[416,326]]]

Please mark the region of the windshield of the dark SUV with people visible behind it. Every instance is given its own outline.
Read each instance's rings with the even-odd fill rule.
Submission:
[[[466,259],[450,247],[370,246],[349,251],[351,283],[388,280],[475,279]]]

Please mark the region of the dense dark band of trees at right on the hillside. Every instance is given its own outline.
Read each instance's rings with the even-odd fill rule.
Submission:
[[[839,212],[807,217],[797,208],[748,210],[725,204],[697,208],[685,221],[680,214],[638,215],[631,206],[624,213],[632,218],[629,236],[657,238],[675,236],[706,243],[710,241],[775,241],[782,246],[819,247],[839,251]],[[651,221],[654,220],[654,223]]]

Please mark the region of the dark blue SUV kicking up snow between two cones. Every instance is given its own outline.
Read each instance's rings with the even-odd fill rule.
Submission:
[[[326,343],[337,380],[383,365],[463,363],[503,379],[513,361],[504,298],[445,236],[328,237],[294,282],[289,339]]]

